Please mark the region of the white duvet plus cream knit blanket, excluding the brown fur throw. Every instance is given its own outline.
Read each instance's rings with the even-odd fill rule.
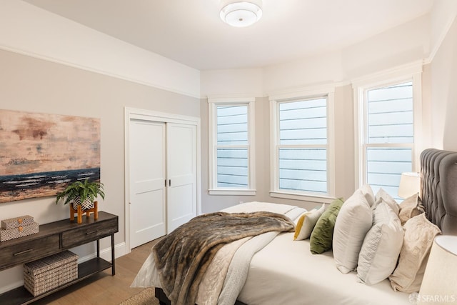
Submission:
[[[259,210],[289,213],[292,220],[304,211],[295,206],[261,202],[240,204],[224,211]],[[197,304],[216,304],[218,296],[217,304],[233,304],[238,294],[238,300],[248,305],[412,304],[409,294],[393,291],[388,280],[367,286],[357,281],[355,272],[341,274],[336,269],[331,251],[311,254],[309,240],[293,241],[293,232],[273,236],[272,232],[269,233],[263,238],[240,241],[242,245],[236,247],[236,252],[228,247],[224,255],[229,256],[231,265],[221,261],[215,263],[215,269],[204,279],[206,286],[199,289]],[[263,241],[266,239],[272,240],[265,245]],[[256,247],[260,250],[257,251]],[[250,264],[242,262],[246,258],[251,259]],[[223,283],[224,278],[218,274],[225,270],[227,276]],[[146,259],[132,286],[161,287],[152,256]]]

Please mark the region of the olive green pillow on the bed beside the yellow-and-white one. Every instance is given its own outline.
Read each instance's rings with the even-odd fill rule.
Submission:
[[[321,254],[331,249],[333,228],[342,205],[343,199],[333,200],[328,209],[319,217],[309,239],[309,248],[312,254]]]

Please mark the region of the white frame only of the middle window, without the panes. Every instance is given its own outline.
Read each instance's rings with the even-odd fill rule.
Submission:
[[[278,109],[281,102],[300,101],[303,99],[314,99],[326,97],[327,99],[327,194],[311,192],[292,192],[279,189],[279,114]],[[270,138],[271,138],[271,190],[270,196],[283,199],[294,199],[316,203],[331,203],[335,199],[335,120],[334,120],[334,86],[322,86],[319,88],[302,89],[290,94],[278,94],[270,96]]]

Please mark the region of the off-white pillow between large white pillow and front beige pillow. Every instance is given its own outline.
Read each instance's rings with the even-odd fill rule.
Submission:
[[[381,199],[373,211],[373,226],[366,234],[358,256],[358,279],[367,285],[387,279],[396,267],[402,245],[401,221]]]

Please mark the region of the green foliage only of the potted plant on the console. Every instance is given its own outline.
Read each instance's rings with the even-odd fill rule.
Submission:
[[[77,197],[84,202],[86,199],[94,201],[97,196],[105,199],[105,193],[103,189],[104,185],[99,181],[89,181],[88,179],[81,181],[74,181],[69,186],[57,194],[56,204],[59,201],[64,201],[64,204],[69,204],[71,201],[76,200]]]

